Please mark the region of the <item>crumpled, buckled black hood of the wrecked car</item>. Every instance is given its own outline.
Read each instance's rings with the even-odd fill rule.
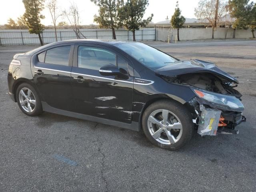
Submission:
[[[188,61],[177,61],[170,65],[164,66],[155,71],[156,74],[164,76],[177,76],[188,73],[198,73],[198,72],[209,72],[216,74],[222,78],[222,80],[239,83],[238,80],[230,74],[222,71],[220,68],[216,67],[214,63],[206,62],[198,59],[188,60]]]

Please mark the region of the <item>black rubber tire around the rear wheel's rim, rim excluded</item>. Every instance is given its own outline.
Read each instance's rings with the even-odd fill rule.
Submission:
[[[32,91],[32,93],[34,94],[35,96],[35,99],[36,99],[36,107],[35,109],[32,111],[32,112],[26,112],[22,106],[20,105],[20,100],[19,100],[19,92],[22,88],[28,88]],[[22,112],[28,116],[37,116],[37,115],[40,115],[42,113],[42,103],[41,103],[41,100],[40,100],[40,97],[38,95],[38,93],[36,92],[36,89],[28,84],[28,83],[22,83],[18,86],[17,90],[16,90],[16,100],[17,100],[17,103],[18,103],[18,106],[20,107],[20,109],[22,110]]]

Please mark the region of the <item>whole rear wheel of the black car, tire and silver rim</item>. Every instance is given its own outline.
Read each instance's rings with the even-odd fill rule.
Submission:
[[[23,92],[21,92],[21,90]],[[27,96],[27,98],[25,96]],[[28,83],[22,83],[18,86],[16,90],[16,100],[20,110],[28,116],[38,116],[43,112],[38,93],[35,88]]]

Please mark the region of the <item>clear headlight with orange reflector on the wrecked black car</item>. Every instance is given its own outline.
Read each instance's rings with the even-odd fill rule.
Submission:
[[[218,93],[209,92],[206,90],[196,90],[192,89],[194,93],[201,99],[209,102],[211,106],[214,106],[223,110],[234,110],[234,111],[243,111],[244,106],[238,98],[235,96],[228,96]]]

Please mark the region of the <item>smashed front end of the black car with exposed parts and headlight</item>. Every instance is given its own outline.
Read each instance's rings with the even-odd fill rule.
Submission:
[[[206,63],[204,65],[207,66]],[[188,69],[180,75],[158,73],[158,76],[169,83],[188,86],[194,92],[195,97],[188,104],[194,109],[193,122],[201,136],[237,134],[236,126],[246,121],[242,115],[242,94],[234,89],[239,82],[216,66],[214,70],[200,69],[191,73]]]

